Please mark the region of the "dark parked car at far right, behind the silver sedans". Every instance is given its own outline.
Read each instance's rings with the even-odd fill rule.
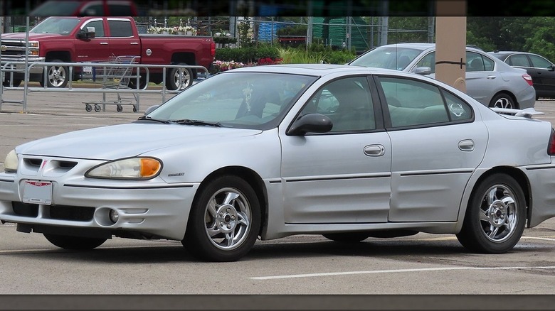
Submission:
[[[512,67],[528,72],[534,82],[536,99],[555,98],[555,65],[541,55],[517,51],[494,51],[488,54],[499,58]]]

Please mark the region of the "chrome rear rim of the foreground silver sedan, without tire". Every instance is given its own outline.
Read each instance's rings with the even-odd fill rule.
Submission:
[[[495,185],[486,192],[480,214],[482,233],[493,242],[509,239],[517,228],[519,212],[514,193],[504,185]]]

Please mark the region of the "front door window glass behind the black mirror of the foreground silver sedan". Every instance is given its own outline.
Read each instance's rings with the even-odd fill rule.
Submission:
[[[318,113],[332,119],[331,132],[376,129],[374,106],[366,77],[349,77],[324,85],[301,114]]]

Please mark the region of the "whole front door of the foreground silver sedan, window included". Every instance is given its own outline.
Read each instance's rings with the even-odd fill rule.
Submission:
[[[301,115],[328,116],[332,131],[280,138],[286,223],[387,221],[391,144],[376,122],[371,93],[366,77],[329,82]]]

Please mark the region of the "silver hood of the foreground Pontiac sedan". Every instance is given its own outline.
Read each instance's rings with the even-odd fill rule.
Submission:
[[[159,148],[228,141],[231,138],[252,136],[260,132],[252,129],[137,122],[41,138],[18,146],[16,151],[26,155],[113,160]]]

